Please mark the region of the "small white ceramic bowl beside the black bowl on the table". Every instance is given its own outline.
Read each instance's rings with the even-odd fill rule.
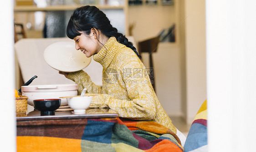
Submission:
[[[74,110],[74,114],[85,114],[91,102],[92,96],[67,98],[67,103]]]

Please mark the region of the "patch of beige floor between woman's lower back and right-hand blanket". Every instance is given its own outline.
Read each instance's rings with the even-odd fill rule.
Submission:
[[[182,117],[170,116],[170,118],[174,126],[187,137],[191,124],[187,124]]]

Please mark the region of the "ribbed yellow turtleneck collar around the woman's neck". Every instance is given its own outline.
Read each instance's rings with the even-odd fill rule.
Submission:
[[[103,69],[106,69],[118,50],[123,47],[125,47],[125,45],[118,43],[115,37],[110,37],[102,49],[97,54],[93,55],[93,59],[100,63]]]

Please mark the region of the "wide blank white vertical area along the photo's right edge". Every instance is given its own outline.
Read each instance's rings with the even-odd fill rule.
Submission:
[[[209,152],[253,152],[256,1],[206,0]]]

